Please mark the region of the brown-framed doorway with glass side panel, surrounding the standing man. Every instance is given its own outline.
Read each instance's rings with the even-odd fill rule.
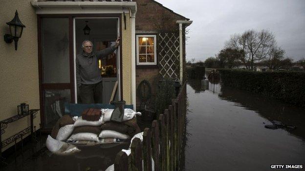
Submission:
[[[50,131],[65,114],[65,103],[78,102],[75,57],[82,52],[84,39],[92,41],[94,50],[111,46],[121,35],[120,20],[120,14],[111,14],[111,17],[83,14],[38,15],[40,109],[45,131]],[[86,24],[91,29],[89,35],[85,35],[83,31]],[[104,71],[102,73],[101,70],[105,92],[103,103],[109,103],[116,81],[118,86],[114,100],[119,100],[122,96],[121,51],[119,47],[100,63]]]

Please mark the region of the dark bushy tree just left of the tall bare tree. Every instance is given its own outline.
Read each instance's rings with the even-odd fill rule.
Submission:
[[[222,49],[218,54],[219,59],[219,67],[224,68],[227,66],[228,68],[233,68],[237,64],[237,60],[244,56],[242,50],[233,49],[233,48],[225,48]]]

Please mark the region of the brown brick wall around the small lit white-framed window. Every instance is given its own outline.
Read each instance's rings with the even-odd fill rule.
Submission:
[[[175,14],[172,10],[165,8],[154,0],[133,0],[137,3],[137,13],[135,18],[136,33],[155,33],[158,32],[175,32],[179,30],[176,20],[185,20],[186,18]],[[157,48],[158,49],[158,48]],[[158,53],[158,52],[157,52]],[[158,60],[159,61],[159,60]],[[185,54],[184,54],[185,61]],[[159,81],[159,68],[153,67],[137,67],[136,68],[136,88],[139,83],[146,79],[152,86],[151,102],[154,102],[157,84]],[[141,100],[136,97],[137,110]],[[142,105],[142,107],[144,104]]]

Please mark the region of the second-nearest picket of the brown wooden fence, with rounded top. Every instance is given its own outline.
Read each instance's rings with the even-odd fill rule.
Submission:
[[[142,171],[142,144],[139,138],[134,138],[131,143],[131,170]]]

